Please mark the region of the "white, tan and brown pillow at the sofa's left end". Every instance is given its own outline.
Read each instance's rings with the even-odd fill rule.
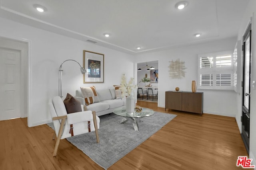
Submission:
[[[84,97],[86,105],[100,102],[100,98],[96,92],[94,86],[92,87],[80,87],[82,95]]]

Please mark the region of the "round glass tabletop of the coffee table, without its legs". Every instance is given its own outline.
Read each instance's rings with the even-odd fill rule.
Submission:
[[[148,116],[153,115],[155,113],[155,111],[152,110],[152,109],[142,107],[141,112],[137,112],[134,109],[134,112],[127,113],[126,112],[126,107],[119,107],[119,108],[115,109],[113,111],[113,113],[115,113],[116,115],[119,115],[119,116],[123,116],[123,117],[148,117]]]

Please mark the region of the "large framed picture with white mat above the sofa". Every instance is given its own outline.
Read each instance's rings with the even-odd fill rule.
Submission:
[[[84,50],[84,83],[104,82],[104,54]]]

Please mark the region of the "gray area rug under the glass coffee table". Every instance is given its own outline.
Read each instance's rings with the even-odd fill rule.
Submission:
[[[100,116],[100,129],[98,129],[100,143],[96,143],[94,131],[69,137],[67,140],[99,166],[107,169],[146,141],[174,117],[176,115],[155,112],[150,117],[141,118],[143,122],[138,122],[139,132],[136,132],[130,121],[120,124],[118,122],[123,117],[110,113],[110,115]],[[50,123],[48,125],[50,126]]]

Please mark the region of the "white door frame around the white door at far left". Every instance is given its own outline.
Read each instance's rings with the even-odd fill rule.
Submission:
[[[20,91],[21,117],[28,117],[28,127],[32,126],[30,121],[30,41],[27,39],[16,39],[0,35],[0,39],[8,41],[8,44],[1,44],[0,47],[20,51]]]

